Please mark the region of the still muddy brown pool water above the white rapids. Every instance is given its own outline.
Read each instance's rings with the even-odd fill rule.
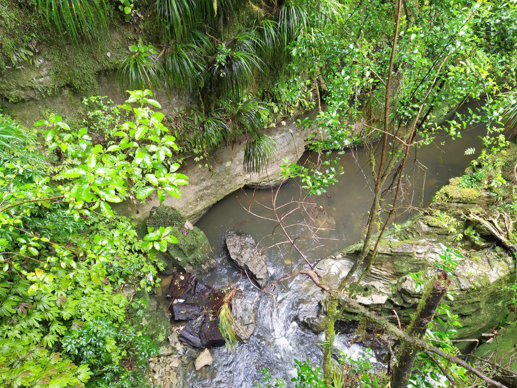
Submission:
[[[461,114],[466,114],[468,108],[477,106],[478,103],[470,103],[460,109]],[[435,192],[446,185],[451,177],[463,174],[468,163],[473,160],[481,150],[480,136],[486,135],[484,125],[467,126],[461,131],[461,138],[452,140],[450,137],[437,137],[432,144],[421,147],[412,154],[406,167],[407,176],[404,182],[405,200],[401,203],[405,209],[393,222],[401,223],[412,214],[412,210],[422,208],[431,202]],[[465,155],[467,148],[474,147],[474,155]],[[337,156],[337,155],[335,155]],[[309,157],[306,155],[306,157]],[[329,187],[326,195],[321,197],[302,197],[303,201],[315,203],[323,207],[326,215],[330,217],[318,233],[319,241],[297,240],[298,244],[311,262],[328,256],[333,252],[351,245],[362,236],[366,216],[371,206],[372,178],[369,171],[367,155],[361,148],[351,148],[344,155],[339,155],[340,165],[344,173],[338,177],[339,182]],[[231,177],[229,177],[231,178]],[[196,226],[205,232],[214,249],[216,258],[220,260],[219,268],[208,275],[206,280],[214,285],[221,285],[224,280],[234,279],[236,275],[226,271],[227,251],[224,237],[229,230],[236,230],[252,235],[259,247],[266,247],[283,241],[280,228],[276,228],[272,237],[275,222],[257,217],[274,217],[274,213],[265,206],[272,207],[272,197],[277,189],[242,189],[231,193],[216,203],[208,213],[201,218]],[[300,199],[300,185],[296,180],[290,180],[281,186],[278,192],[277,205],[290,202],[292,199]],[[290,207],[292,208],[292,206]],[[285,210],[285,209],[282,209]],[[314,218],[314,217],[313,217]],[[326,217],[322,215],[321,219]],[[305,211],[295,212],[288,221],[291,223],[303,222],[308,219]],[[309,219],[310,221],[310,219]],[[335,224],[334,224],[335,222]],[[289,222],[286,222],[289,223]],[[307,235],[307,228],[299,226],[289,230],[293,237]],[[287,250],[285,249],[287,248]],[[301,264],[301,258],[291,248],[276,246],[264,251],[266,262],[276,268],[279,278],[293,267]],[[303,262],[305,264],[305,262]],[[230,273],[229,273],[230,272]],[[224,275],[223,275],[224,273]]]

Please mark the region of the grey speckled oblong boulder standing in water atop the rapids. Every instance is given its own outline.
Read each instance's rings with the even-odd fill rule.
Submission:
[[[267,267],[264,259],[257,252],[253,237],[249,234],[232,232],[226,236],[226,246],[235,265],[246,271],[261,288],[264,288],[268,282]]]

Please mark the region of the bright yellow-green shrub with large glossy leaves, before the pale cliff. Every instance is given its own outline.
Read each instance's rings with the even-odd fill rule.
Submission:
[[[105,147],[92,142],[87,127],[74,131],[62,117],[51,115],[35,123],[47,127],[44,136],[49,150],[57,150],[58,156],[67,158],[57,175],[72,179],[66,198],[78,205],[94,203],[90,210],[99,207],[108,217],[113,215],[110,202],[126,198],[135,202],[151,193],[156,193],[161,202],[165,192],[179,197],[178,186],[188,183],[185,175],[176,173],[179,165],[166,160],[177,146],[162,124],[163,113],[149,108],[160,108],[160,104],[149,98],[153,94],[148,90],[129,94],[119,108],[130,121],[106,129]]]

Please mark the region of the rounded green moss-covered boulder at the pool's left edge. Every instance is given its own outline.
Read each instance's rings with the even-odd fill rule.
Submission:
[[[174,265],[179,265],[187,272],[206,272],[215,266],[210,243],[205,233],[186,224],[185,218],[179,211],[169,206],[153,207],[147,225],[153,228],[172,227],[172,234],[178,238],[177,244],[169,244],[162,259],[165,272]]]

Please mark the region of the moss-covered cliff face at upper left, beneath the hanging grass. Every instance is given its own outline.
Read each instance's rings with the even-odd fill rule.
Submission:
[[[6,0],[0,0],[0,15],[4,8],[14,15],[18,12],[21,20],[38,20],[32,9],[6,5]],[[0,98],[13,102],[53,95],[66,86],[76,92],[97,93],[97,75],[115,69],[135,39],[125,24],[113,24],[99,42],[80,44],[64,42],[62,37],[52,35],[39,22],[25,24],[14,26],[18,29],[17,35],[8,37],[8,43],[2,43],[0,52]],[[0,42],[5,39],[2,31],[4,28],[0,28]],[[24,43],[26,40],[28,43]],[[2,66],[12,52],[20,51],[29,43],[36,44],[39,52],[16,67],[6,69]]]

